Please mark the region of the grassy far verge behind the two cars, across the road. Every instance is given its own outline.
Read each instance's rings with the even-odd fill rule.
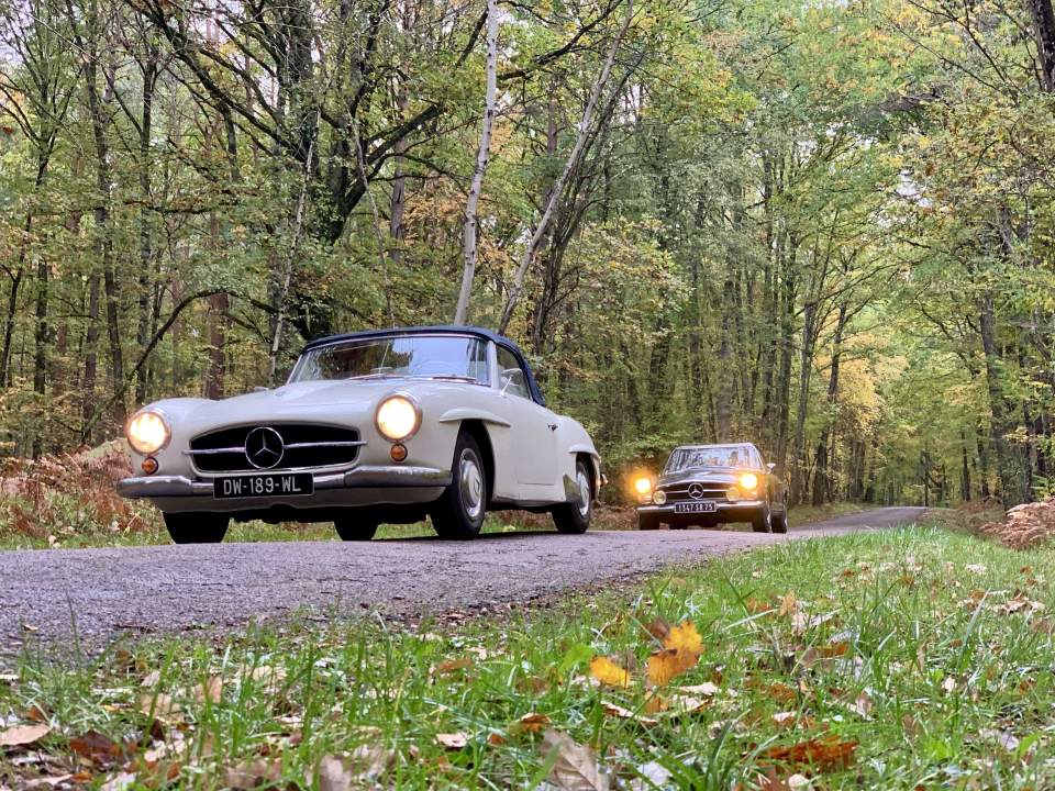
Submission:
[[[24,498],[0,493],[0,549],[79,549],[85,547],[152,546],[168,544],[168,533],[160,513],[144,502],[122,503],[127,515],[114,517],[107,511],[103,520],[98,511],[86,505],[84,498],[66,492],[49,491],[46,497],[46,520],[29,522],[14,514],[33,512],[34,503]],[[12,508],[14,505],[14,508]],[[798,506],[791,509],[791,525],[802,526],[813,522],[859,513],[871,505],[862,503],[832,503],[821,508]],[[47,525],[47,526],[45,526]],[[484,533],[519,533],[554,531],[548,514],[532,514],[502,511],[489,514]],[[636,512],[632,506],[604,505],[597,510],[590,530],[637,530]],[[724,530],[749,531],[749,525],[725,525]],[[381,525],[376,538],[417,538],[434,536],[427,521],[408,525]],[[301,524],[287,522],[271,525],[264,522],[232,523],[224,538],[226,542],[293,542],[338,541],[329,522]]]

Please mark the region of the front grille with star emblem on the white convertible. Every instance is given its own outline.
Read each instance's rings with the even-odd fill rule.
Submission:
[[[281,458],[271,466],[249,461],[245,443],[251,432],[271,430],[281,437]],[[334,467],[355,461],[359,447],[355,428],[311,423],[277,423],[234,426],[202,434],[190,441],[187,454],[200,472],[256,472],[293,467]]]

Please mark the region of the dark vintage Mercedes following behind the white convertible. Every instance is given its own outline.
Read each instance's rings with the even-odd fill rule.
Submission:
[[[751,443],[682,445],[658,479],[633,481],[637,526],[656,530],[749,522],[756,533],[788,532],[788,488]]]

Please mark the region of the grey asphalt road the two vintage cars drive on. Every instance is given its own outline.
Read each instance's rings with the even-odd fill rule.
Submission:
[[[508,533],[474,542],[302,542],[0,552],[0,653],[25,640],[98,649],[123,634],[233,631],[307,608],[320,617],[478,612],[762,544],[881,530],[887,508],[792,531]]]

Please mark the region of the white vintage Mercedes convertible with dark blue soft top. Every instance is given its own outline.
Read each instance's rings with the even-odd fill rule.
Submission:
[[[602,481],[586,430],[546,409],[517,345],[465,326],[309,343],[274,390],[178,398],[136,412],[118,483],[165,515],[177,544],[220,542],[234,520],[333,522],[345,541],[426,514],[471,538],[488,509],[590,524]]]

